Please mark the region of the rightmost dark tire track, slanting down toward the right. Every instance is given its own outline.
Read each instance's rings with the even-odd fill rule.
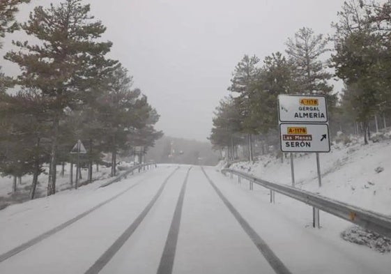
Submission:
[[[209,178],[208,174],[206,174],[204,167],[201,167],[202,172],[204,172],[204,175],[208,179],[210,185],[212,185],[212,188],[215,190],[217,195],[222,199],[224,204],[227,206],[229,211],[232,213],[233,217],[239,222],[240,226],[243,228],[243,230],[247,233],[247,235],[251,238],[254,245],[256,245],[256,248],[258,248],[259,252],[265,257],[266,261],[270,264],[270,266],[273,268],[275,273],[277,274],[291,274],[291,271],[289,271],[288,268],[284,265],[284,263],[277,257],[277,255],[271,250],[268,246],[268,244],[263,241],[261,236],[259,236],[256,231],[250,226],[250,224],[240,215],[240,213],[236,210],[236,208],[228,201],[228,199],[222,194],[222,192],[217,188],[215,183]]]

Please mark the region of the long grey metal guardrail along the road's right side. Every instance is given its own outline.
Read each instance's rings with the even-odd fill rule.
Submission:
[[[270,202],[274,202],[274,192],[278,192],[282,195],[302,201],[305,204],[309,204],[310,206],[314,206],[314,208],[321,211],[330,213],[349,222],[353,222],[353,224],[357,224],[360,227],[364,227],[365,229],[375,231],[378,234],[391,238],[390,216],[375,213],[373,211],[367,211],[357,206],[352,206],[350,204],[343,203],[342,201],[336,201],[328,197],[316,195],[306,190],[293,188],[289,185],[270,183],[244,172],[238,172],[233,169],[222,169],[222,173],[224,175],[227,172],[231,174],[231,178],[233,178],[233,174],[238,176],[238,181],[240,181],[240,178],[247,179],[250,182],[250,190],[253,188],[253,183],[261,185],[264,188],[268,188],[270,190]],[[319,222],[319,218],[317,221]]]

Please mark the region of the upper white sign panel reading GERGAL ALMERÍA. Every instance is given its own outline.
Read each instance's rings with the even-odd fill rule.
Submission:
[[[278,119],[288,123],[327,123],[325,96],[278,96]]]

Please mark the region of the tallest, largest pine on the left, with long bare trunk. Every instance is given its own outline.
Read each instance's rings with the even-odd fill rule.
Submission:
[[[22,29],[40,43],[15,42],[21,50],[6,54],[6,59],[17,63],[22,70],[17,84],[37,89],[51,102],[47,105],[52,122],[47,195],[56,192],[59,125],[64,112],[91,100],[95,86],[115,63],[105,59],[112,43],[97,41],[105,26],[93,22],[89,11],[90,6],[83,6],[81,0],[66,0],[49,8],[38,6]]]

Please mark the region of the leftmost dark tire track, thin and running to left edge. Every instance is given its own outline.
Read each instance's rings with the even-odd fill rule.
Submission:
[[[103,201],[102,203],[98,204],[97,206],[90,208],[88,211],[84,211],[84,213],[77,215],[75,218],[72,218],[66,222],[63,222],[62,224],[59,224],[57,227],[54,227],[53,229],[50,229],[49,231],[46,231],[43,234],[40,234],[39,236],[32,238],[31,240],[27,241],[26,243],[22,243],[21,245],[18,245],[16,248],[13,248],[12,250],[9,250],[8,252],[0,254],[0,263],[3,261],[6,261],[6,259],[13,257],[14,255],[16,255],[16,254],[18,254],[28,248],[31,248],[31,246],[36,245],[37,243],[40,243],[41,241],[45,240],[49,236],[56,234],[57,232],[65,229],[66,227],[69,227],[70,224],[77,222],[78,220],[86,217],[86,215],[89,215],[93,211],[96,211],[98,208],[105,206],[105,204],[108,204],[110,201],[113,201],[114,199],[120,197],[121,195],[124,195],[126,192],[128,192],[132,188],[135,188],[135,186],[139,185],[140,183],[141,183],[141,181],[139,181],[138,183],[135,183],[134,185],[131,185],[129,188],[123,190],[122,192],[119,192],[117,195],[114,195],[110,199]]]

